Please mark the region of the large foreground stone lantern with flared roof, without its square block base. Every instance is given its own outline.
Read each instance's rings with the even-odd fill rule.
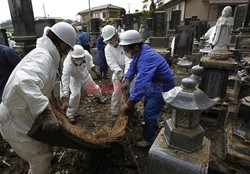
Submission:
[[[181,86],[163,96],[172,109],[164,132],[169,147],[189,153],[199,149],[204,138],[204,129],[200,126],[201,112],[210,109],[216,102],[198,89],[192,78],[183,79]]]

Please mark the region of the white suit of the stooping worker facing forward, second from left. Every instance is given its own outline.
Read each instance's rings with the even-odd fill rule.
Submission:
[[[88,92],[88,88],[95,89],[93,95],[101,96],[101,89],[95,84],[88,70],[91,70],[95,65],[93,58],[87,50],[84,50],[85,58],[80,66],[76,65],[72,60],[71,53],[68,54],[63,63],[63,75],[60,90],[60,97],[69,97],[69,107],[66,115],[70,119],[73,118],[78,110],[81,99],[81,88],[83,87]]]

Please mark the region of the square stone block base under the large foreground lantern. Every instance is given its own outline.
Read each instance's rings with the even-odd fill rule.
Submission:
[[[148,174],[205,174],[208,172],[209,152],[210,141],[207,138],[194,153],[170,148],[163,128],[149,150]]]

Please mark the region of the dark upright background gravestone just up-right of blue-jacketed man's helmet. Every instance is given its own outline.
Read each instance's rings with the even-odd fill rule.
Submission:
[[[153,36],[155,37],[165,37],[166,36],[166,26],[165,26],[165,11],[156,11],[153,14]]]

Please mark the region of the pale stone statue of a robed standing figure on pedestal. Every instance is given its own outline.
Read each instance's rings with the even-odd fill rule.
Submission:
[[[213,58],[216,58],[218,55],[218,59],[226,59],[226,57],[229,56],[228,46],[230,43],[230,33],[234,23],[231,15],[232,7],[226,6],[222,11],[222,16],[217,20],[215,35],[212,42],[214,48],[211,52],[211,56]]]

